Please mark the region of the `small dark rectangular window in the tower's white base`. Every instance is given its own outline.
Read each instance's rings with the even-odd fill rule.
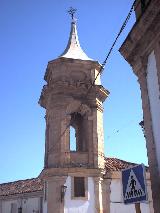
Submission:
[[[74,177],[74,197],[85,197],[84,177]]]

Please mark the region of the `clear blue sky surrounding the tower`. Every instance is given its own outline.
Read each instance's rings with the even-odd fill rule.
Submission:
[[[70,6],[77,8],[80,44],[103,62],[132,0],[0,1],[0,182],[32,178],[43,168],[45,111],[38,105],[48,61],[65,49]],[[136,76],[118,52],[134,14],[102,74],[110,91],[104,103],[105,155],[148,163]]]

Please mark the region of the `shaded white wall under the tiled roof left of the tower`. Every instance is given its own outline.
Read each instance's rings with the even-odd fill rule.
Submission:
[[[2,201],[2,213],[11,213],[11,204],[16,203],[17,208],[22,206],[23,213],[32,213],[33,210],[40,211],[40,198],[28,198],[28,199],[17,199],[17,200],[4,200]]]

